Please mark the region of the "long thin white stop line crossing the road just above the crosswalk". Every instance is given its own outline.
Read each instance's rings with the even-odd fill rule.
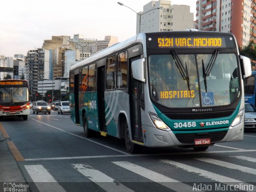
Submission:
[[[157,153],[157,154],[128,154],[128,155],[98,155],[98,156],[78,156],[78,157],[50,157],[50,158],[34,158],[25,159],[25,161],[47,161],[47,160],[63,160],[63,159],[92,159],[92,158],[109,158],[109,157],[140,157],[140,156],[160,156],[160,155],[191,155],[200,153],[240,153],[240,152],[255,152],[252,150],[231,150],[231,151],[193,151],[182,153]]]

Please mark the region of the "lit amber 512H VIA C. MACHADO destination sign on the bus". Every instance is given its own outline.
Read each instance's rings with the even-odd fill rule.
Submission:
[[[232,36],[189,36],[189,37],[167,37],[154,36],[148,38],[148,46],[154,48],[173,48],[173,49],[191,49],[191,48],[234,48],[234,38]]]

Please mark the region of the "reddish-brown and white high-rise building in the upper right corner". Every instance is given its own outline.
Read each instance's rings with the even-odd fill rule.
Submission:
[[[256,0],[198,0],[196,28],[233,33],[239,47],[254,40]],[[256,40],[256,39],[255,39]]]

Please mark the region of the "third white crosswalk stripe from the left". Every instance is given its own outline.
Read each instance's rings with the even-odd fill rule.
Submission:
[[[162,174],[159,174],[147,168],[140,167],[139,165],[135,165],[128,161],[113,161],[112,163],[122,168],[128,169],[136,174],[144,176],[145,178],[148,178],[154,182],[157,182],[177,192],[188,192],[188,191],[192,191],[193,189],[192,186],[189,186],[187,184],[179,182],[178,180],[169,178],[167,176],[164,176]]]

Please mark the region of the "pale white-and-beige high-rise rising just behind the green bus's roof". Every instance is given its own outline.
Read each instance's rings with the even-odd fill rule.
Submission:
[[[194,14],[190,6],[172,5],[171,1],[151,1],[137,14],[136,33],[182,31],[194,28]]]

